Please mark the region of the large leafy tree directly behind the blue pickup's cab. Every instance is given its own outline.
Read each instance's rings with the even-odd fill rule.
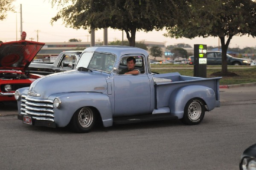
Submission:
[[[176,2],[177,1],[177,2]],[[175,4],[176,3],[176,4]],[[52,0],[52,6],[62,8],[51,23],[62,19],[66,26],[75,29],[124,30],[130,46],[135,46],[137,31],[161,30],[173,23],[179,0]]]

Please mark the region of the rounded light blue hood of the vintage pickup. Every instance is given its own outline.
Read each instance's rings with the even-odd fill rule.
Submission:
[[[100,92],[107,90],[108,76],[99,72],[84,72],[71,70],[44,76],[35,80],[30,88],[30,94],[40,94],[47,99],[50,95],[64,92]]]

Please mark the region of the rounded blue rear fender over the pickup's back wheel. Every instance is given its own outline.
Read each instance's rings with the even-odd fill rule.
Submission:
[[[183,117],[186,103],[192,98],[201,98],[207,105],[208,111],[215,107],[215,92],[206,86],[183,86],[172,92],[169,100],[170,112],[178,118]]]

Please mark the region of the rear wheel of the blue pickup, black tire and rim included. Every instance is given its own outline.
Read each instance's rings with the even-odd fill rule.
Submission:
[[[186,103],[181,121],[188,125],[199,124],[204,118],[204,113],[204,101],[199,98],[193,98]]]

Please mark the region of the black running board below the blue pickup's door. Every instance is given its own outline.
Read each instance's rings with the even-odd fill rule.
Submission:
[[[135,116],[113,118],[113,123],[114,124],[132,124],[132,123],[139,123],[139,122],[146,122],[146,121],[162,121],[162,120],[171,120],[171,119],[178,119],[178,117],[171,115],[170,113],[135,115]]]

